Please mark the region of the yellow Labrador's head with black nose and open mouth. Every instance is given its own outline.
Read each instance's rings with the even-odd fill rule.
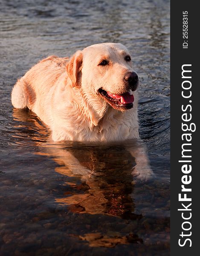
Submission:
[[[98,106],[109,104],[119,111],[133,108],[139,79],[130,53],[122,44],[95,44],[76,52],[67,73],[72,87],[80,87],[87,99],[98,101]]]

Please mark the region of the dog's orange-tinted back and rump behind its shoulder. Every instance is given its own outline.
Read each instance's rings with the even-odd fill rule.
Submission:
[[[29,108],[41,119],[48,112],[53,94],[53,87],[66,71],[69,58],[49,56],[33,66],[23,77],[17,80],[12,90],[14,108]],[[48,118],[49,115],[46,113]],[[47,120],[43,120],[47,122]]]

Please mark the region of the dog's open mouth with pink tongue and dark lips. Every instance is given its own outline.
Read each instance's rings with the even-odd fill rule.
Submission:
[[[101,88],[99,93],[115,109],[123,111],[133,108],[134,96],[129,92],[118,95],[109,93]]]

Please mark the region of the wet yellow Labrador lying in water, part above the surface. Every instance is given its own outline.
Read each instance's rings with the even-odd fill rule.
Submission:
[[[139,137],[138,84],[125,46],[95,44],[40,61],[14,85],[12,104],[35,112],[54,141],[123,141]]]

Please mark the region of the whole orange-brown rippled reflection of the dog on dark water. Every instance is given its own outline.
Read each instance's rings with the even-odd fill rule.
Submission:
[[[153,177],[153,172],[139,141],[121,145],[52,143],[48,141],[46,128],[38,122],[34,113],[14,109],[13,116],[23,123],[22,132],[31,134],[31,140],[35,141],[38,148],[42,146],[42,152],[37,154],[47,155],[55,160],[59,165],[55,171],[69,177],[69,182],[64,183],[64,186],[69,186],[70,189],[66,187],[66,193],[62,198],[56,198],[56,202],[67,204],[70,211],[77,213],[111,215],[124,219],[142,218],[142,215],[134,213],[131,195],[134,183],[141,180],[145,182]],[[24,125],[27,125],[27,129]],[[101,235],[99,236],[95,241],[99,240],[101,244]],[[81,239],[89,241],[91,237]],[[129,242],[127,238],[120,239],[117,243]],[[135,242],[138,238],[132,240],[134,241],[131,242]],[[93,240],[89,242],[93,244]]]

